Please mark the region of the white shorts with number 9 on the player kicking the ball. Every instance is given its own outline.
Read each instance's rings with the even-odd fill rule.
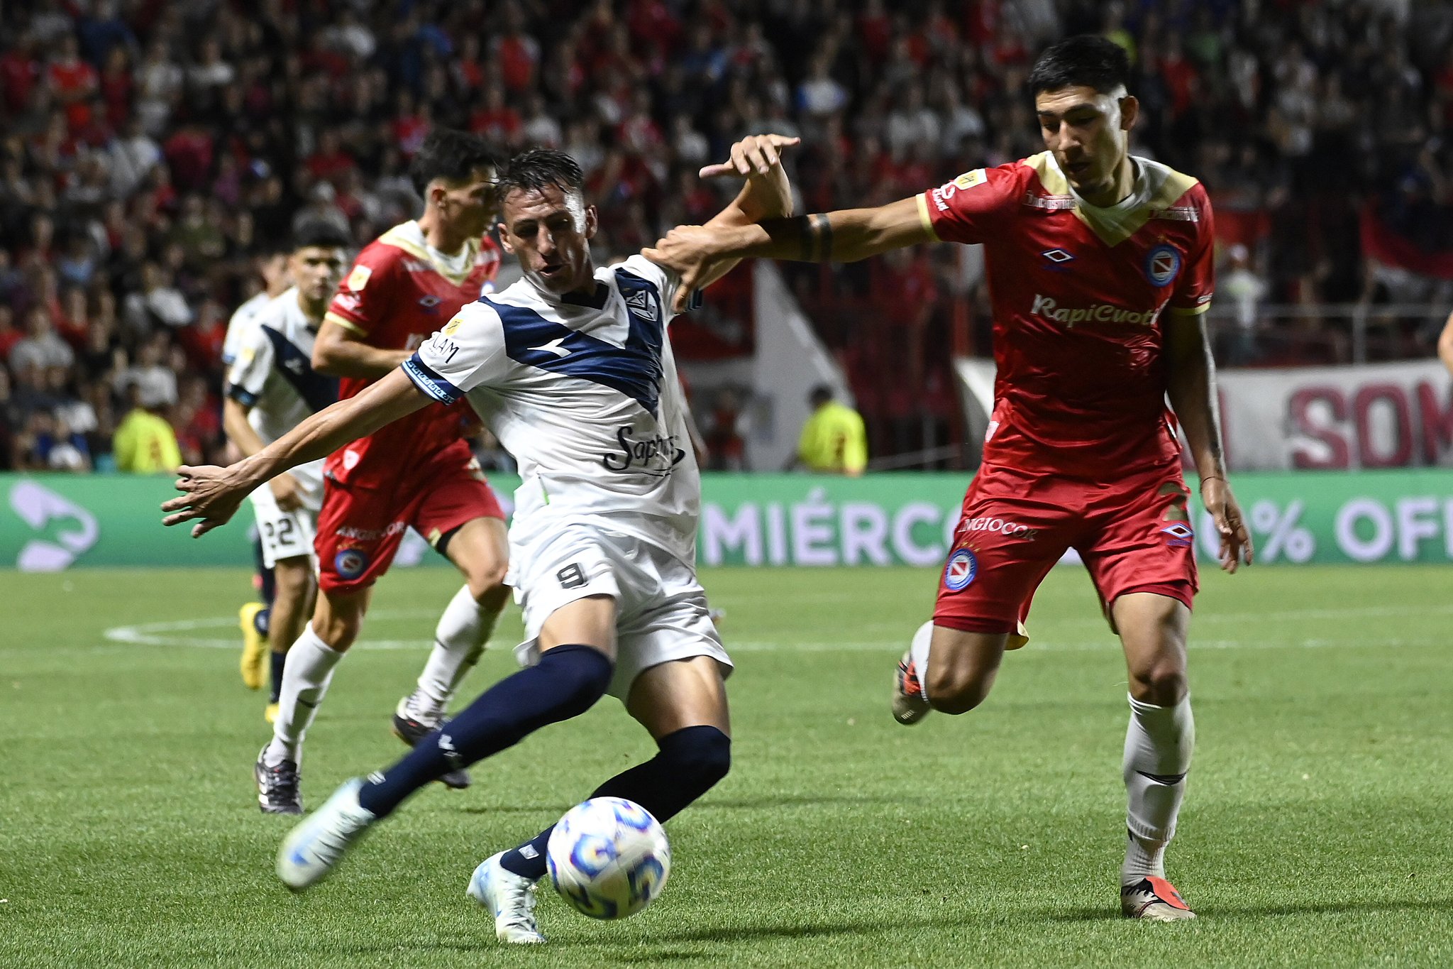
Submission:
[[[520,665],[539,662],[539,632],[561,606],[586,596],[616,600],[616,670],[610,696],[626,700],[645,670],[711,657],[722,677],[732,662],[706,607],[696,569],[658,545],[596,524],[568,524],[510,551],[514,599],[525,612]]]

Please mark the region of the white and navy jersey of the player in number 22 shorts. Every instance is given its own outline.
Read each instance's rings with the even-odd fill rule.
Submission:
[[[339,381],[312,369],[317,331],[298,305],[294,286],[267,304],[257,325],[243,334],[237,359],[227,373],[227,394],[247,413],[264,445],[270,445],[305,418],[339,400]],[[323,461],[289,472],[308,495],[323,498]]]

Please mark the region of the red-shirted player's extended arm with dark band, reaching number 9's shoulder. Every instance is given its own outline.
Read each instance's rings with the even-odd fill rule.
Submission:
[[[721,260],[790,259],[805,263],[853,263],[891,248],[937,241],[918,208],[918,196],[875,209],[841,209],[796,218],[766,219],[756,225],[679,225],[655,248],[651,261],[681,275],[677,301],[683,301]],[[735,263],[734,263],[735,264]]]

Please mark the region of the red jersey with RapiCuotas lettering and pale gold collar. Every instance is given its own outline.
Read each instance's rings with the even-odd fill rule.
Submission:
[[[1132,163],[1135,187],[1109,208],[1077,196],[1048,151],[918,196],[936,238],[984,244],[987,465],[1106,481],[1178,462],[1162,320],[1210,305],[1210,200],[1187,174]]]

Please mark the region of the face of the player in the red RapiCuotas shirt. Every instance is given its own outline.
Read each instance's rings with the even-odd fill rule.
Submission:
[[[1075,192],[1091,202],[1114,186],[1139,102],[1122,92],[1061,87],[1035,96],[1039,131]],[[1116,202],[1117,199],[1110,199]]]

